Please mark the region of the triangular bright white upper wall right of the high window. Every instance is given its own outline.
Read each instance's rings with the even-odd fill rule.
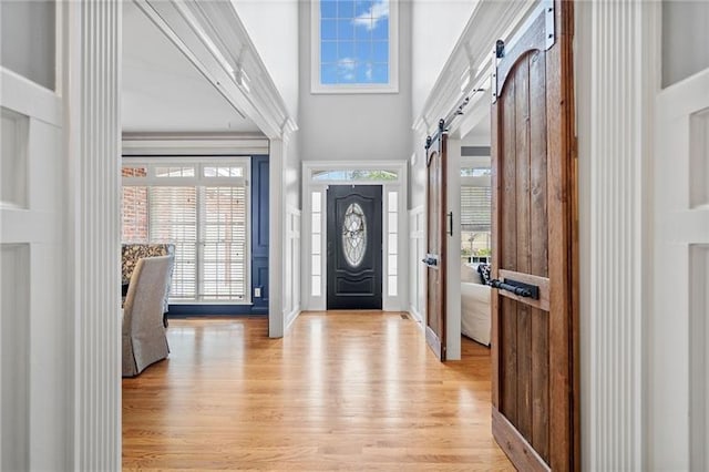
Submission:
[[[477,0],[412,0],[412,116],[421,113]]]

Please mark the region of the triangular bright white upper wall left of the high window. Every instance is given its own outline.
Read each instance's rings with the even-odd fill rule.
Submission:
[[[282,96],[298,116],[298,0],[233,0],[251,42]]]

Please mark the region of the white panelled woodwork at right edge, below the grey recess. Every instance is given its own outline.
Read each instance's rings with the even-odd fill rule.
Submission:
[[[709,466],[709,70],[657,95],[649,466]]]

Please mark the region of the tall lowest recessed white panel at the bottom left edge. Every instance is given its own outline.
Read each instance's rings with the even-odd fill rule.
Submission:
[[[0,470],[29,470],[30,249],[0,245]]]

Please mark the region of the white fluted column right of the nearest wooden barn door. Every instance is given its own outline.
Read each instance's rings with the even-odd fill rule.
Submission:
[[[583,470],[643,470],[656,7],[576,2]]]

